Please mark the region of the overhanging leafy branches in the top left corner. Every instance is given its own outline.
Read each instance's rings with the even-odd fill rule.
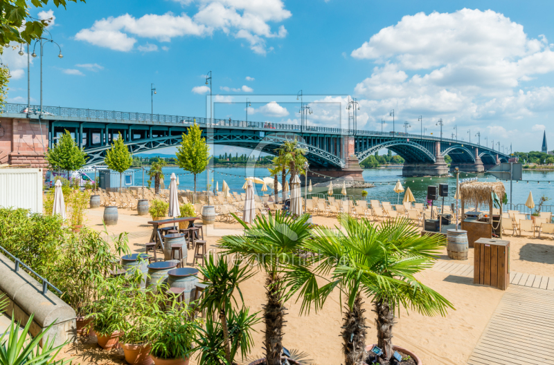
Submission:
[[[74,3],[77,0],[69,0]],[[84,0],[80,0],[83,3]],[[54,0],[53,4],[59,8],[60,5],[66,8],[66,0]],[[10,46],[10,42],[19,44],[30,44],[33,39],[38,39],[52,19],[38,20],[30,16],[31,6],[34,8],[42,8],[43,5],[48,5],[48,0],[18,0],[18,1],[0,1],[0,42],[2,47]],[[0,53],[3,53],[3,48],[0,48]]]

